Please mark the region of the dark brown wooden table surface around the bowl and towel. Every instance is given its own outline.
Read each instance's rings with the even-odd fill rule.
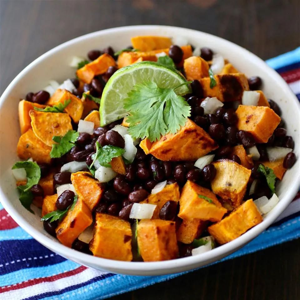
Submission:
[[[299,46],[299,11],[299,0],[0,0],[0,94],[51,48],[125,25],[197,29],[271,58]],[[298,300],[299,253],[300,240],[295,240],[113,299]]]

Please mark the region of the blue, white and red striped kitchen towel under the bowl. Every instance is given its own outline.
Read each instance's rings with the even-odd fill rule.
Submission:
[[[269,59],[267,63],[281,74],[300,100],[300,47]],[[300,193],[272,226],[221,261],[299,237]],[[80,266],[32,239],[27,232],[18,227],[1,204],[0,253],[1,300],[105,299],[186,273],[148,277],[127,276]]]

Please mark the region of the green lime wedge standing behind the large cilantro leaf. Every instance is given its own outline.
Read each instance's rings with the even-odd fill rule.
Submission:
[[[105,126],[124,118],[127,111],[123,108],[123,100],[136,83],[155,82],[160,88],[175,88],[186,82],[183,75],[168,66],[155,62],[140,62],[119,69],[108,80],[102,93],[100,103],[100,124]],[[176,89],[178,95],[190,93],[190,87],[184,85]]]

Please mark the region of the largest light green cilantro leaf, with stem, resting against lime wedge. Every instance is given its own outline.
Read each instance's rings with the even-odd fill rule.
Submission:
[[[133,87],[124,99],[124,108],[130,113],[128,132],[133,138],[149,138],[153,142],[166,133],[176,133],[186,123],[191,108],[175,93],[178,87],[159,88],[154,82]]]

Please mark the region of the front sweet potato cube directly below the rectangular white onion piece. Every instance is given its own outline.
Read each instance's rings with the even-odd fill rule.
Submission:
[[[145,262],[178,257],[175,222],[143,219],[138,223],[138,248]]]

